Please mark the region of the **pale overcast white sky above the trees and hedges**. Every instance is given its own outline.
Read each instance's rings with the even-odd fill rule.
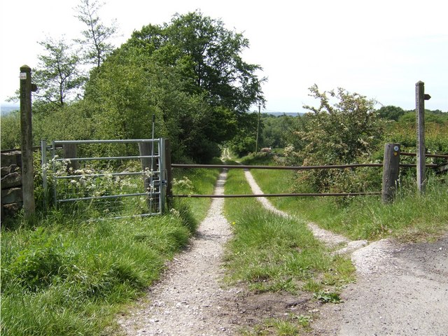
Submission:
[[[0,102],[13,95],[23,64],[33,68],[45,36],[79,37],[78,0],[2,0]],[[448,111],[447,4],[442,0],[106,0],[100,16],[115,18],[116,46],[142,26],[200,9],[250,41],[246,62],[268,78],[266,111],[301,112],[316,83],[343,87],[379,103],[415,108],[415,83],[431,99],[426,109]]]

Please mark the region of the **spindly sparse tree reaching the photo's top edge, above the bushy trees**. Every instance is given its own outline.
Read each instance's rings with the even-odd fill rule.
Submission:
[[[95,0],[80,0],[80,4],[76,7],[78,11],[76,18],[87,26],[87,29],[81,31],[83,38],[76,42],[86,45],[83,57],[87,63],[94,64],[97,69],[113,51],[113,45],[109,43],[109,40],[117,31],[115,21],[109,27],[103,25],[98,15],[100,8],[102,3]]]

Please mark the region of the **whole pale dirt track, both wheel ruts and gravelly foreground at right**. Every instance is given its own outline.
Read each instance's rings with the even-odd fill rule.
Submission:
[[[246,177],[257,190],[251,174]],[[225,173],[216,193],[223,193],[224,183]],[[435,244],[382,240],[362,247],[367,242],[310,225],[326,244],[345,242],[358,272],[358,282],[342,293],[344,303],[321,306],[308,293],[254,295],[226,288],[221,256],[231,230],[222,208],[223,199],[214,199],[190,247],[139,307],[120,316],[127,335],[238,335],[241,327],[289,313],[312,313],[308,335],[448,335],[448,235]]]

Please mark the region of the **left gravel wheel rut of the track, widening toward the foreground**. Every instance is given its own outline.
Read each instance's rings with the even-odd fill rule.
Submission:
[[[223,194],[226,176],[223,172],[218,177],[216,195]],[[233,335],[232,323],[219,316],[221,302],[238,293],[221,286],[223,245],[232,235],[222,214],[223,202],[212,200],[190,246],[149,291],[151,302],[120,318],[127,335]]]

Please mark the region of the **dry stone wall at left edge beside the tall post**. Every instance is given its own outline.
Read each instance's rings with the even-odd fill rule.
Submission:
[[[22,209],[22,155],[1,153],[1,221]]]

